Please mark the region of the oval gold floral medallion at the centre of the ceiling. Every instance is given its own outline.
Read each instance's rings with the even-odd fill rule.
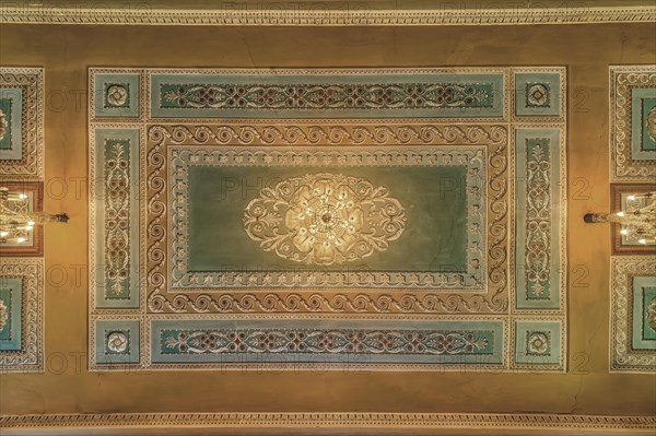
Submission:
[[[266,251],[329,266],[385,251],[406,226],[406,211],[386,187],[321,173],[263,188],[246,207],[248,236]]]

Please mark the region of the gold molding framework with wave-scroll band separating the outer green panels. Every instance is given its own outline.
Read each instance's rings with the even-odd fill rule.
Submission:
[[[139,74],[141,85],[139,93],[139,116],[134,118],[114,118],[101,117],[93,113],[93,107],[97,98],[105,96],[105,86],[101,86],[91,93],[90,96],[90,132],[97,129],[139,129],[141,132],[140,144],[140,167],[139,167],[139,199],[140,210],[145,220],[140,222],[140,250],[139,263],[143,266],[148,273],[142,275],[139,284],[140,305],[139,307],[96,307],[97,298],[93,294],[90,296],[90,369],[91,370],[169,370],[169,369],[249,369],[262,367],[259,363],[251,366],[245,366],[242,362],[204,362],[199,358],[197,362],[154,362],[151,347],[153,341],[151,334],[155,331],[153,325],[161,320],[172,320],[184,323],[214,321],[221,319],[245,319],[245,320],[266,320],[273,319],[302,319],[308,321],[312,319],[321,320],[345,320],[345,319],[372,319],[389,320],[397,319],[399,315],[408,320],[423,321],[444,321],[447,319],[458,319],[458,317],[471,316],[478,314],[477,319],[489,318],[503,320],[503,361],[490,365],[489,362],[478,364],[471,363],[438,363],[438,364],[398,364],[382,363],[366,366],[362,362],[350,362],[355,364],[355,368],[372,368],[376,370],[481,370],[494,368],[496,372],[564,372],[566,362],[566,317],[565,306],[566,295],[562,285],[565,281],[564,272],[560,275],[561,295],[560,306],[544,308],[536,307],[523,310],[516,310],[514,302],[516,291],[514,290],[514,269],[511,268],[513,259],[509,247],[514,246],[514,211],[515,186],[512,182],[515,165],[515,138],[513,132],[516,129],[558,129],[560,134],[560,172],[554,169],[553,175],[564,176],[565,164],[565,111],[564,101],[561,99],[558,105],[562,110],[549,114],[530,114],[528,116],[517,117],[511,115],[513,98],[518,94],[514,89],[515,73],[520,72],[527,75],[529,81],[540,80],[541,73],[548,73],[550,87],[560,95],[566,95],[566,71],[562,67],[546,68],[435,68],[435,69],[281,69],[281,70],[261,70],[261,69],[130,69],[130,68],[91,68],[89,71],[90,84],[92,89],[97,87],[96,74],[104,76],[120,76],[120,74]],[[374,113],[363,113],[359,115],[366,118],[329,119],[329,118],[304,118],[290,119],[279,117],[279,114],[272,111],[262,113],[266,118],[152,118],[151,105],[153,98],[151,95],[151,76],[153,74],[189,74],[191,76],[230,76],[241,78],[244,83],[250,83],[251,78],[265,78],[267,83],[288,83],[294,81],[295,76],[301,80],[314,80],[311,76],[320,75],[352,75],[353,83],[359,83],[362,78],[396,74],[398,76],[431,75],[438,78],[440,74],[457,75],[467,74],[496,74],[503,76],[503,110],[499,114],[479,116],[479,118],[445,117],[443,114],[434,114],[433,118],[379,118]],[[531,79],[534,78],[534,79]],[[530,80],[529,80],[530,79]],[[555,80],[559,83],[555,83]],[[437,80],[437,79],[435,79]],[[411,81],[411,80],[410,80]],[[122,82],[121,82],[122,83]],[[137,82],[134,82],[137,83]],[[241,82],[239,82],[241,83]],[[313,82],[314,83],[314,82]],[[528,83],[528,82],[527,82]],[[526,89],[524,83],[523,90]],[[541,82],[540,82],[541,83]],[[557,90],[558,87],[558,90]],[[130,86],[130,93],[132,86]],[[526,90],[525,90],[526,92]],[[126,94],[127,95],[127,94]],[[118,95],[122,98],[122,94]],[[117,97],[117,98],[118,98]],[[534,96],[538,102],[540,96]],[[130,104],[134,102],[128,96]],[[134,94],[137,98],[137,94]],[[122,102],[122,99],[121,99]],[[128,99],[126,99],[128,102]],[[552,102],[552,101],[550,101]],[[553,101],[555,102],[555,101]],[[539,103],[539,102],[538,102]],[[126,103],[127,104],[127,103]],[[554,103],[555,104],[555,103]],[[212,114],[210,114],[212,115]],[[177,114],[173,114],[179,117]],[[198,115],[192,115],[198,116]],[[206,114],[200,116],[208,117]],[[94,133],[90,133],[90,146],[95,146]],[[186,148],[207,148],[218,146],[225,150],[246,150],[251,151],[284,146],[293,151],[295,148],[311,149],[323,145],[341,145],[344,149],[358,148],[382,149],[382,148],[431,148],[431,146],[467,146],[484,145],[488,148],[487,174],[489,175],[488,188],[488,278],[487,292],[403,292],[401,294],[389,292],[389,290],[366,290],[360,292],[353,290],[324,290],[314,288],[290,288],[290,290],[237,290],[237,292],[225,292],[225,290],[212,290],[212,292],[197,292],[199,290],[185,290],[180,293],[176,288],[171,288],[167,280],[167,262],[169,262],[165,248],[168,247],[166,234],[168,233],[168,223],[165,210],[169,204],[167,179],[169,178],[167,153],[174,149]],[[554,144],[555,145],[555,144]],[[317,149],[319,150],[319,149]],[[320,150],[319,150],[320,151]],[[253,153],[253,152],[250,152]],[[94,156],[94,152],[90,153]],[[254,154],[248,156],[254,158],[254,165],[258,165],[258,157]],[[250,161],[249,161],[250,163]],[[91,170],[94,169],[94,160],[90,161]],[[562,187],[564,189],[564,187]],[[564,190],[561,190],[564,198]],[[92,213],[93,215],[93,207]],[[561,216],[564,222],[565,213]],[[559,221],[561,221],[559,220]],[[562,225],[562,222],[559,225]],[[90,238],[93,240],[95,232],[93,220],[90,222]],[[157,243],[159,240],[159,243]],[[564,233],[561,232],[559,241],[561,260],[564,266],[565,247]],[[93,260],[92,260],[93,263]],[[94,283],[90,282],[91,288]],[[219,291],[219,292],[216,292]],[[421,291],[421,290],[420,290]],[[129,352],[121,351],[121,358],[113,357],[112,362],[101,362],[94,356],[97,352],[95,343],[97,341],[96,323],[110,321],[117,327],[117,331],[124,332],[124,337],[129,340],[136,339],[134,332],[139,330],[140,350],[130,346]],[[523,337],[517,339],[522,342],[520,353],[526,354],[529,344],[531,357],[515,358],[516,350],[516,329],[515,325],[522,322],[522,326],[535,323],[536,328],[523,330]],[[137,328],[137,323],[139,327]],[[549,323],[551,322],[551,323]],[[549,323],[549,325],[548,325]],[[132,327],[130,327],[132,326]],[[540,327],[541,326],[541,327]],[[156,326],[155,326],[156,327]],[[211,328],[211,326],[210,326]],[[529,331],[530,330],[530,331]],[[548,332],[544,335],[544,331]],[[104,332],[104,330],[103,330]],[[531,339],[526,333],[536,333],[535,338],[548,337],[548,352],[540,351],[543,347],[539,341]],[[114,333],[114,330],[112,331]],[[539,334],[542,333],[542,337]],[[532,338],[532,337],[530,337]],[[535,339],[534,338],[534,339]],[[102,335],[104,340],[105,337]],[[107,337],[108,339],[108,337]],[[120,342],[120,343],[119,343]],[[93,345],[92,345],[93,344]],[[118,344],[118,345],[116,345]],[[122,346],[118,341],[113,346]],[[557,355],[557,350],[560,353]],[[105,345],[103,344],[103,352]],[[114,353],[116,353],[114,351]],[[129,358],[125,357],[129,354]],[[534,358],[540,354],[539,358]],[[549,355],[548,355],[549,354]],[[139,357],[139,358],[138,358]],[[548,358],[547,358],[548,357]],[[289,365],[289,369],[298,368],[302,362],[294,362]],[[338,364],[339,365],[339,364]],[[316,366],[315,366],[316,367]],[[342,365],[343,367],[343,365]],[[273,368],[281,369],[280,365],[273,364]],[[301,368],[304,369],[305,367]],[[328,369],[338,369],[339,366],[332,365]],[[285,368],[282,368],[285,369]],[[313,369],[308,367],[307,369]]]

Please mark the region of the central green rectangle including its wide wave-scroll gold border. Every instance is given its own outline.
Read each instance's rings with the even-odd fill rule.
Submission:
[[[507,307],[502,127],[373,126],[362,146],[330,126],[298,128],[297,146],[232,129],[149,128],[153,313]],[[351,144],[303,145],[319,132]]]

